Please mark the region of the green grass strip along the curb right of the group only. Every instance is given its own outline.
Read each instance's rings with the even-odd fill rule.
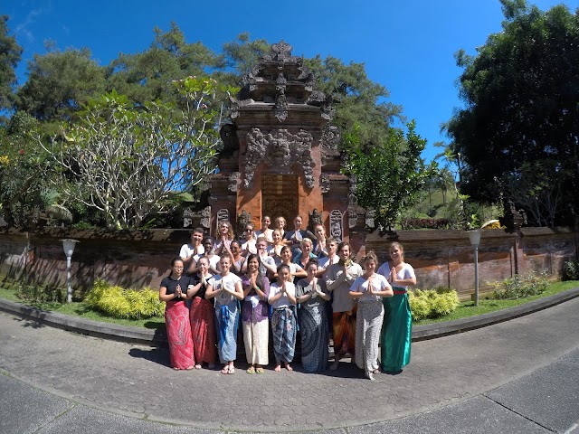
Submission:
[[[538,298],[544,298],[558,294],[559,292],[566,291],[567,289],[572,289],[579,287],[579,281],[569,280],[566,282],[555,282],[549,284],[546,291],[542,294],[536,296],[517,298],[515,300],[491,300],[479,298],[479,306],[474,306],[474,301],[463,301],[460,306],[452,312],[450,315],[442,316],[436,319],[424,319],[422,321],[416,321],[415,325],[427,325],[432,323],[443,323],[445,321],[452,321],[454,319],[468,318],[470,316],[478,316],[483,314],[488,314],[489,312],[495,312],[497,310],[506,309],[508,307],[515,307],[528,303],[529,301],[536,300]]]

